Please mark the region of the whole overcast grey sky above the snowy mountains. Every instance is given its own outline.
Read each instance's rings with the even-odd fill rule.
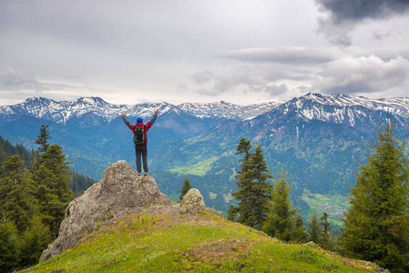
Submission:
[[[408,0],[0,0],[0,105],[409,96]]]

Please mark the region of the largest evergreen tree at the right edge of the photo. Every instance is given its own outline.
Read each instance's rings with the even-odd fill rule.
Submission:
[[[409,272],[409,168],[405,142],[392,116],[376,132],[372,154],[360,164],[344,213],[344,253],[393,272]]]

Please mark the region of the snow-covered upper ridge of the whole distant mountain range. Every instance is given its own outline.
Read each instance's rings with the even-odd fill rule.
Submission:
[[[250,120],[268,113],[296,113],[306,119],[317,119],[332,123],[354,126],[356,119],[371,118],[367,109],[388,111],[394,116],[409,117],[409,98],[371,99],[363,96],[333,94],[322,96],[309,93],[283,102],[268,102],[247,106],[220,101],[216,103],[184,103],[178,106],[169,103],[144,103],[137,105],[115,105],[100,97],[81,97],[76,100],[57,102],[44,97],[31,97],[14,106],[0,106],[0,119],[12,116],[35,116],[66,124],[71,118],[97,116],[107,122],[117,118],[121,112],[127,116],[150,117],[155,109],[160,114],[185,113],[199,118],[229,118],[238,121]]]

